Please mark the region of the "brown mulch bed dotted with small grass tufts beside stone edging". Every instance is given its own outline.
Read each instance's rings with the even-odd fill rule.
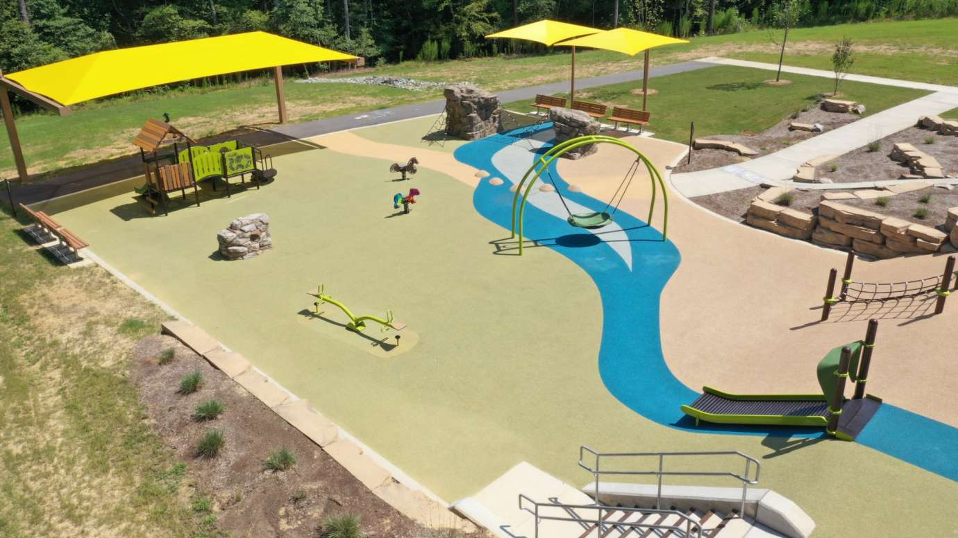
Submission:
[[[157,357],[168,348],[175,350],[175,358],[159,365]],[[183,375],[197,369],[203,374],[201,388],[178,393]],[[258,538],[315,537],[326,517],[349,512],[360,517],[370,537],[434,535],[376,497],[308,437],[174,338],[140,341],[130,370],[149,421],[176,457],[187,462],[199,492],[211,499],[219,530]],[[194,421],[196,405],[211,398],[222,402],[225,411],[214,420]],[[212,460],[195,455],[208,428],[221,429],[226,437]],[[293,452],[296,464],[284,472],[264,470],[263,460],[281,447]]]

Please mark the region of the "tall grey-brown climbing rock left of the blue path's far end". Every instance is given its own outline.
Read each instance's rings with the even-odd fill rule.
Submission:
[[[445,134],[479,140],[499,130],[499,98],[471,84],[445,88]]]

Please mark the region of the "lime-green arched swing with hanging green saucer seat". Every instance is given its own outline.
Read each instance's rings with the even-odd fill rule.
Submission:
[[[623,177],[622,183],[619,184],[619,187],[612,194],[611,199],[609,199],[608,203],[605,204],[603,211],[572,213],[568,204],[565,202],[565,197],[562,196],[562,192],[559,190],[559,186],[556,185],[556,182],[552,177],[552,173],[549,171],[549,167],[552,166],[563,154],[576,149],[577,147],[587,146],[590,144],[613,144],[615,146],[622,146],[635,153],[636,159],[626,172],[625,177]],[[621,204],[622,200],[625,198],[628,187],[631,185],[632,179],[635,177],[635,173],[638,171],[641,165],[645,165],[646,169],[649,171],[652,186],[649,217],[647,219],[647,222],[650,225],[652,216],[655,212],[655,199],[657,190],[660,188],[662,191],[662,200],[664,204],[664,215],[662,217],[662,240],[665,241],[668,237],[669,228],[669,195],[665,188],[665,182],[662,180],[662,174],[660,174],[658,169],[652,165],[649,158],[646,157],[635,146],[609,136],[588,135],[567,140],[557,146],[550,148],[541,157],[539,157],[535,163],[533,163],[532,167],[526,170],[526,173],[523,174],[522,179],[519,181],[518,185],[516,185],[515,192],[513,194],[512,235],[510,235],[510,238],[512,239],[516,236],[516,234],[518,234],[519,255],[522,255],[523,249],[523,222],[525,220],[524,216],[526,202],[529,198],[529,193],[533,189],[533,186],[536,185],[536,180],[542,176],[543,172],[546,174],[546,177],[552,183],[553,187],[556,188],[556,193],[559,194],[559,200],[562,202],[562,207],[565,208],[566,213],[569,213],[569,216],[566,219],[568,223],[571,226],[591,230],[602,228],[612,222],[613,216],[619,210],[619,204]],[[533,172],[535,172],[535,174]],[[529,180],[530,176],[532,177],[531,180]],[[529,181],[527,182],[527,180]],[[519,202],[519,192],[522,192],[521,203]],[[516,218],[516,207],[518,207],[518,218]],[[611,213],[608,213],[610,208],[612,211]]]

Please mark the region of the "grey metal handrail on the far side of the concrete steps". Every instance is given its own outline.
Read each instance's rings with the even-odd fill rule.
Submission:
[[[592,468],[585,464],[584,456],[585,453],[589,453],[595,457],[595,468]],[[665,459],[666,457],[683,457],[683,456],[739,456],[745,460],[745,470],[740,475],[734,471],[666,471],[665,470]],[[602,459],[603,458],[658,458],[658,470],[654,471],[627,471],[627,470],[614,470],[614,469],[603,469],[602,468]],[[755,464],[755,477],[750,478],[751,475],[751,466],[752,463]],[[585,469],[586,471],[592,473],[596,482],[595,489],[595,498],[596,503],[599,503],[599,477],[603,475],[620,475],[620,476],[648,476],[654,475],[658,478],[658,489],[655,495],[655,507],[662,507],[662,477],[665,476],[683,476],[683,477],[731,477],[741,481],[741,509],[739,510],[739,517],[744,517],[745,514],[745,497],[748,494],[748,486],[755,485],[759,483],[759,475],[762,473],[762,464],[759,460],[748,456],[747,454],[742,454],[741,452],[735,451],[714,451],[714,452],[597,452],[592,448],[582,445],[579,447],[579,466]]]

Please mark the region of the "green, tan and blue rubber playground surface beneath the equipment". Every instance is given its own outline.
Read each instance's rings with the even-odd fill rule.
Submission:
[[[958,502],[958,471],[948,463],[958,460],[948,444],[958,427],[950,395],[958,303],[936,317],[853,312],[813,324],[840,253],[726,221],[674,191],[663,242],[661,213],[651,226],[643,220],[650,186],[642,174],[615,225],[591,232],[564,222],[555,192],[536,190],[526,226],[539,246],[517,257],[503,240],[509,187],[551,131],[428,146],[420,137],[434,121],[311,139],[320,147],[277,157],[278,179],[261,190],[166,217],[150,217],[131,192],[46,211],[59,206],[57,220],[100,258],[446,501],[476,493],[521,460],[582,485],[590,477],[576,464],[580,444],[739,450],[762,461],[759,487],[810,514],[816,536],[846,536],[850,525],[854,535],[903,535],[918,522],[928,535],[956,530],[942,508]],[[683,153],[672,143],[627,141],[663,171]],[[393,181],[389,165],[414,155],[419,173]],[[600,146],[559,163],[555,180],[563,192],[582,187],[569,203],[601,209],[629,155]],[[505,184],[480,180],[476,169]],[[393,195],[413,187],[422,195],[412,213],[396,214]],[[217,231],[248,213],[270,215],[274,249],[219,259]],[[943,264],[859,262],[856,277],[920,278]],[[389,341],[379,339],[392,333],[375,324],[365,337],[345,330],[346,317],[330,305],[323,318],[308,315],[307,292],[319,283],[357,315],[392,309],[408,324],[402,344],[386,351]],[[862,442],[809,430],[696,428],[683,419],[677,404],[705,384],[816,392],[818,360],[861,338],[872,315],[882,319],[868,390],[891,405]]]

